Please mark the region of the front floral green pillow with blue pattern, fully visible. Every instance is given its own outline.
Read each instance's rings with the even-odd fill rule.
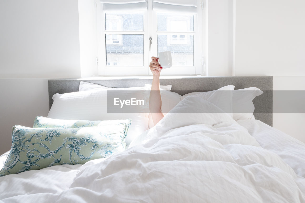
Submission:
[[[108,157],[126,149],[127,130],[126,123],[80,128],[14,126],[13,144],[0,176]]]

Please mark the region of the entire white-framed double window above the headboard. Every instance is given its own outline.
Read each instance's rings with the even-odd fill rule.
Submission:
[[[192,12],[185,12],[185,7],[169,12],[165,8],[169,4],[159,3],[160,0],[138,3],[122,0],[114,9],[107,9],[111,3],[102,0],[97,6],[99,75],[151,74],[148,67],[151,56],[164,51],[171,52],[173,67],[162,70],[161,74],[201,74],[201,26],[198,26],[201,8],[196,8],[196,0],[190,1],[195,5],[189,6]],[[134,9],[133,5],[140,3],[145,6]],[[149,37],[152,37],[150,50]]]

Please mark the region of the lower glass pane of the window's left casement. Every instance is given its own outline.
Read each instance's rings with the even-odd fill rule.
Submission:
[[[142,34],[106,34],[107,66],[144,66]]]

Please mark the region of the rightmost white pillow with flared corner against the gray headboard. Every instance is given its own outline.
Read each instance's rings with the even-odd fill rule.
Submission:
[[[257,87],[234,90],[232,96],[233,119],[254,119],[252,100],[264,92]]]

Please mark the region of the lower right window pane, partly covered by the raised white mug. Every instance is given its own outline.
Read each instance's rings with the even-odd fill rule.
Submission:
[[[170,51],[173,66],[194,66],[194,35],[158,34],[158,52]]]

